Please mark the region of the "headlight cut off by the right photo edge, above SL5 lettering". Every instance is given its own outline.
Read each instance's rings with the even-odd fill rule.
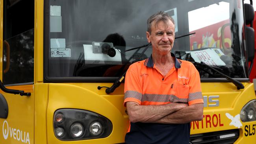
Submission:
[[[240,112],[242,122],[256,121],[256,100],[248,102]]]

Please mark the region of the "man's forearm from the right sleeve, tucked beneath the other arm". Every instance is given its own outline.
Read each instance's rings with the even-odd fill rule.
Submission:
[[[203,118],[203,103],[197,103],[184,107],[174,113],[168,114],[155,123],[162,124],[184,124]]]

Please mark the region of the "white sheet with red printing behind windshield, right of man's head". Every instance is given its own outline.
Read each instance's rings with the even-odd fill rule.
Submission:
[[[201,61],[207,65],[212,66],[225,66],[226,64],[221,60],[220,56],[224,55],[219,48],[208,48],[206,50],[187,51],[195,62],[200,63]]]

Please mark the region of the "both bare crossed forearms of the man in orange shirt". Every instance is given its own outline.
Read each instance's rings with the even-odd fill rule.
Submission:
[[[168,103],[164,105],[139,105],[126,102],[131,122],[182,124],[203,118],[203,103]]]

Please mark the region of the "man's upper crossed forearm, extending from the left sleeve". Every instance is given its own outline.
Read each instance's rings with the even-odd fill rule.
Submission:
[[[171,113],[188,107],[187,103],[168,103],[164,105],[139,105],[136,102],[126,102],[131,122],[160,122]],[[160,122],[161,123],[161,122]]]

